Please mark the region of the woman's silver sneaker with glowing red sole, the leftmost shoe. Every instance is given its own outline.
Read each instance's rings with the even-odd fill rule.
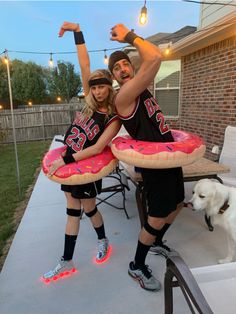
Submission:
[[[53,270],[50,270],[48,273],[43,275],[42,280],[45,283],[49,283],[50,281],[55,281],[76,272],[77,270],[72,261],[64,261],[64,259],[61,258],[60,262]]]

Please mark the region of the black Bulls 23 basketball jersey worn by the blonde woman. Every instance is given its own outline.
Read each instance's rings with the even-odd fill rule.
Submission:
[[[84,118],[81,112],[77,112],[64,137],[67,153],[73,154],[96,144],[105,128],[115,119],[118,119],[116,114],[108,115],[101,111],[95,111],[91,118]]]

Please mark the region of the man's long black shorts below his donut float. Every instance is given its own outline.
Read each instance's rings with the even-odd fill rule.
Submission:
[[[140,169],[148,215],[165,218],[184,200],[182,168]]]

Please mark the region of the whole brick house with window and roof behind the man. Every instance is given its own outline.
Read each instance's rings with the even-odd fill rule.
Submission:
[[[162,49],[171,42],[165,71],[150,86],[167,122],[203,137],[205,156],[216,159],[212,147],[221,149],[226,126],[236,125],[236,8],[203,4],[197,30],[187,26],[147,39]],[[137,52],[125,50],[138,68]],[[173,70],[166,72],[170,62]]]

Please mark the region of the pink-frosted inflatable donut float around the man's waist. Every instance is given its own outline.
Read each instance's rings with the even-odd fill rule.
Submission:
[[[141,168],[175,168],[193,163],[206,150],[203,140],[192,133],[171,130],[174,142],[145,142],[129,135],[112,141],[111,150],[117,159]]]

